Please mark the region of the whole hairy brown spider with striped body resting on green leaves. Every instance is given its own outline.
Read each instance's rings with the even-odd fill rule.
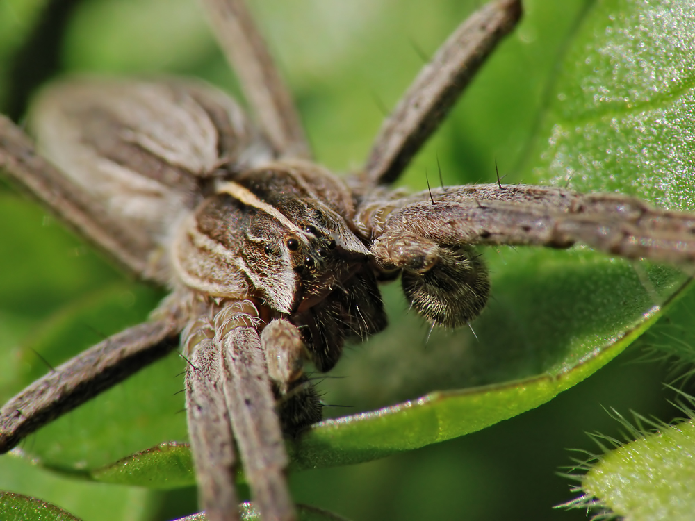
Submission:
[[[389,190],[514,26],[518,2],[491,3],[452,35],[384,123],[363,172],[346,180],[309,161],[243,3],[207,5],[259,129],[220,91],[176,78],[47,90],[33,109],[35,129],[62,173],[3,123],[10,176],[127,270],[172,290],[152,320],[10,400],[0,413],[3,450],[180,343],[208,518],[236,518],[240,459],[263,518],[292,519],[282,437],[301,436],[322,415],[304,363],[328,371],[345,340],[384,329],[378,281],[400,276],[420,315],[457,327],[489,298],[475,245],[583,242],[626,258],[692,261],[694,217],[630,197],[501,181]]]

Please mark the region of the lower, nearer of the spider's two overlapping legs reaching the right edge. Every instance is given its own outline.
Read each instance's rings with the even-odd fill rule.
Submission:
[[[695,261],[695,215],[651,208],[633,197],[576,195],[566,207],[516,201],[435,201],[391,215],[373,251],[414,234],[438,245],[530,245],[567,248],[575,242],[626,258]],[[396,256],[398,257],[398,256]],[[399,261],[402,263],[403,261]]]

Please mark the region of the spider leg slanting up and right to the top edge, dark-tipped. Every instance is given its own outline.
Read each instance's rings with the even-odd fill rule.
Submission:
[[[364,168],[368,186],[398,179],[520,17],[521,1],[493,1],[450,35],[382,124]]]

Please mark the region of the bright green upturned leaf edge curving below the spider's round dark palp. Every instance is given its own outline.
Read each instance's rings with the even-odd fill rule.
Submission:
[[[322,422],[304,433],[293,447],[295,467],[370,461],[463,436],[528,411],[612,360],[661,314],[655,311],[646,321],[640,317],[605,347],[590,350],[586,345],[575,346],[564,358],[548,363],[539,377],[434,392],[372,413]]]

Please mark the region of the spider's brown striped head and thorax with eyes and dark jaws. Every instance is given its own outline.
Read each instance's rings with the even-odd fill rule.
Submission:
[[[220,177],[177,234],[174,272],[209,297],[250,299],[264,323],[287,320],[327,371],[346,338],[386,326],[372,255],[352,215],[345,185],[316,165],[273,163]]]

